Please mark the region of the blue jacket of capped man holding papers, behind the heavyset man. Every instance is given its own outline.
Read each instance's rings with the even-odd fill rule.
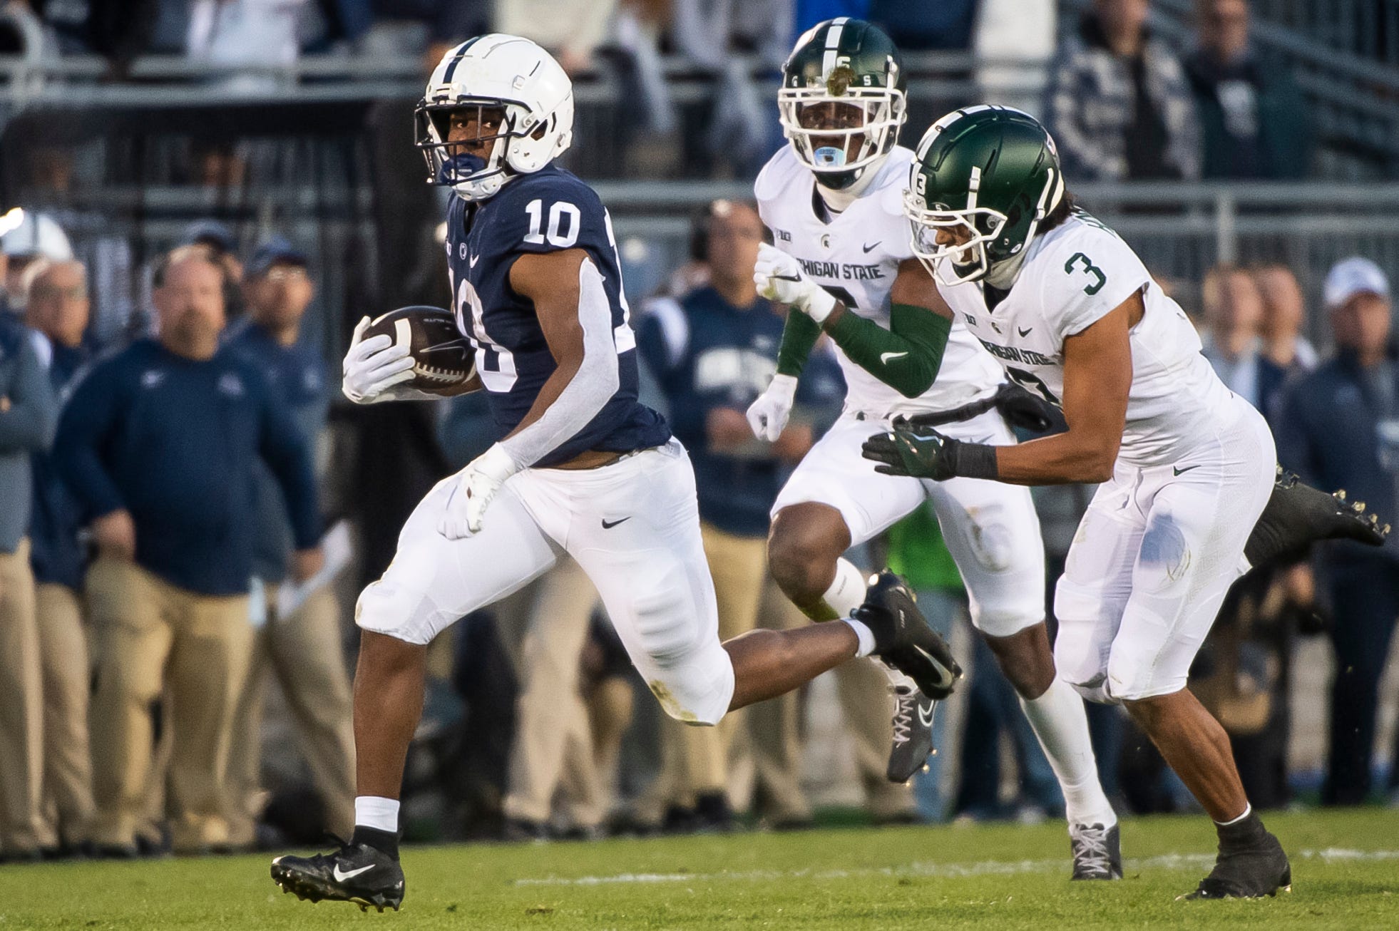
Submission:
[[[330,396],[326,363],[320,354],[305,344],[281,345],[260,326],[249,322],[228,340],[228,345],[262,370],[263,379],[283,404],[308,450],[326,425]],[[256,463],[257,537],[253,542],[253,575],[264,582],[281,582],[291,562],[292,528],[287,502],[277,477],[266,463]]]

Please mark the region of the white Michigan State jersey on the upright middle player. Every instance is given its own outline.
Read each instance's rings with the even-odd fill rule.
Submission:
[[[758,214],[779,249],[796,256],[802,270],[849,310],[888,327],[888,292],[898,263],[912,259],[904,189],[914,152],[895,145],[870,186],[842,214],[824,222],[816,214],[816,179],[783,145],[758,175],[753,193]],[[947,411],[995,393],[1000,372],[963,322],[953,320],[937,380],[908,398],[855,365],[835,348],[845,373],[845,410],[879,417]]]

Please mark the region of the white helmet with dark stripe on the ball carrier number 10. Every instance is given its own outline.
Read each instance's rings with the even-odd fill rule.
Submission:
[[[467,127],[474,123],[469,140],[450,140],[453,113]],[[485,200],[512,173],[537,172],[568,148],[574,84],[529,39],[481,35],[442,56],[414,119],[428,183],[450,185],[466,200]]]

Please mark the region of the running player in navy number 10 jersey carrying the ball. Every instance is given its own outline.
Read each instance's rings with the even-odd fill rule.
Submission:
[[[354,681],[355,829],[329,854],[280,857],[273,879],[302,899],[397,907],[399,786],[422,712],[424,657],[457,618],[539,577],[568,552],[588,573],[662,707],[715,724],[852,657],[894,663],[925,693],[957,674],[902,596],[870,587],[859,616],[754,630],[720,644],[684,447],[637,401],[635,335],[611,222],[597,194],[551,165],[572,137],[572,87],[527,39],[452,49],[417,108],[429,182],[455,192],[446,247],[457,326],[499,440],[428,492],[383,577],[360,596]],[[346,396],[435,398],[406,383],[406,345],[355,329]]]

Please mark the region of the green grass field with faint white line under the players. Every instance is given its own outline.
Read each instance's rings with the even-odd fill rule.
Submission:
[[[845,829],[409,849],[403,911],[312,906],[267,856],[0,868],[0,930],[1399,928],[1399,812],[1272,815],[1294,892],[1175,902],[1212,863],[1203,818],[1123,825],[1126,879],[1070,883],[1059,825]]]

